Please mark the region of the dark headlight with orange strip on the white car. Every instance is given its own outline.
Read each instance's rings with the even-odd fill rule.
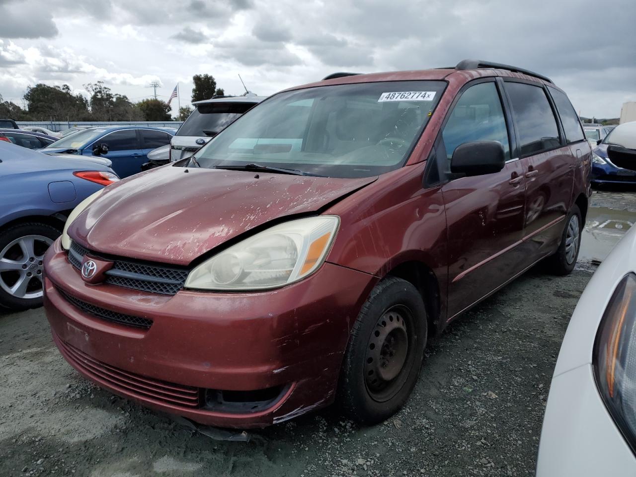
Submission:
[[[609,300],[594,343],[594,373],[607,410],[636,450],[636,275]]]

